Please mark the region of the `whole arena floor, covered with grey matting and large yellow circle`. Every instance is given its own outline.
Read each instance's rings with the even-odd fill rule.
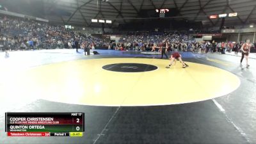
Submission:
[[[189,67],[139,51],[0,53],[0,143],[256,143],[256,68],[182,52]],[[115,65],[113,65],[115,64]],[[81,138],[7,138],[5,112],[84,112]]]

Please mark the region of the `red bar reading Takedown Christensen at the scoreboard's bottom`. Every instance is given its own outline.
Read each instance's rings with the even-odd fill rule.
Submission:
[[[7,132],[7,136],[50,136],[50,132]]]

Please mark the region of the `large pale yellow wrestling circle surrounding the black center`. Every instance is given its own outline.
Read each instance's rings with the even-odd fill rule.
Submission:
[[[143,63],[148,72],[112,72],[104,65]],[[157,106],[213,99],[240,85],[234,74],[220,68],[146,58],[104,58],[53,63],[29,68],[10,83],[0,85],[0,95],[20,99],[45,99],[90,106]]]

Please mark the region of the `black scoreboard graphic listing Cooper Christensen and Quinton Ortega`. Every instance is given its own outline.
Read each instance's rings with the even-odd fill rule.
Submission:
[[[83,136],[84,113],[5,113],[7,136]]]

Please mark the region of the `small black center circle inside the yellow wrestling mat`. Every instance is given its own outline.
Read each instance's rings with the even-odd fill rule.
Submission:
[[[102,68],[113,72],[148,72],[157,69],[154,65],[144,63],[113,63]]]

